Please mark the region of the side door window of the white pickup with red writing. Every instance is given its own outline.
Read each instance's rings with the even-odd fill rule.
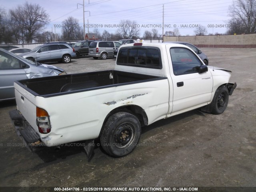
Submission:
[[[170,48],[174,75],[197,73],[202,65],[196,55],[186,48]]]

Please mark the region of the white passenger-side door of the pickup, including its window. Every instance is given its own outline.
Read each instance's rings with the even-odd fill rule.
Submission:
[[[210,102],[212,74],[210,71],[199,73],[199,67],[204,64],[194,51],[170,45],[166,45],[166,48],[173,82],[171,114],[198,108]]]

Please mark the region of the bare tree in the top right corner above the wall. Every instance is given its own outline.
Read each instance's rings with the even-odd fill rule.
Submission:
[[[235,0],[229,11],[228,34],[256,33],[256,0]]]

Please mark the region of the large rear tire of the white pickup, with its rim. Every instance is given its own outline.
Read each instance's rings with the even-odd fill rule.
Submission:
[[[140,140],[141,126],[136,116],[127,112],[118,112],[108,118],[100,143],[104,151],[113,157],[128,155]]]

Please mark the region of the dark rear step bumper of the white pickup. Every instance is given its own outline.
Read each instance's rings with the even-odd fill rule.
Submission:
[[[9,114],[18,136],[22,137],[24,144],[29,150],[32,150],[34,147],[44,146],[39,134],[30,126],[18,110],[12,110]]]

